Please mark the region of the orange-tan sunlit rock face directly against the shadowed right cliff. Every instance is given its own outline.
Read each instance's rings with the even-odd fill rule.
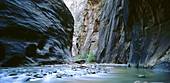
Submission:
[[[85,54],[97,51],[97,43],[99,37],[100,15],[104,3],[102,0],[88,0],[88,7],[84,11],[84,27],[80,36],[80,53]]]

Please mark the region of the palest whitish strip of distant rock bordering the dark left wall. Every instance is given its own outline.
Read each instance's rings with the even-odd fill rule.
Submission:
[[[81,32],[84,27],[84,10],[87,9],[88,0],[64,0],[67,7],[71,11],[75,22],[74,22],[74,35],[73,35],[73,46],[72,56],[78,56],[81,54]]]

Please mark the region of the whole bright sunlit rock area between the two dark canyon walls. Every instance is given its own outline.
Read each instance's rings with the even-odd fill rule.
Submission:
[[[95,54],[106,0],[64,0],[75,18],[72,55]]]

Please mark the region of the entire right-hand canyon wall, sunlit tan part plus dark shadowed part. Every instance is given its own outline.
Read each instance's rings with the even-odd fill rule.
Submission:
[[[93,52],[99,63],[170,70],[167,3],[168,0],[85,1],[87,5],[80,5],[78,14],[82,24],[74,31],[73,55]]]

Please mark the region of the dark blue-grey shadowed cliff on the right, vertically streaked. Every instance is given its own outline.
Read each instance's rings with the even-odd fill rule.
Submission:
[[[170,68],[167,3],[169,0],[108,0],[101,15],[98,62],[156,68],[166,64],[164,68]]]

